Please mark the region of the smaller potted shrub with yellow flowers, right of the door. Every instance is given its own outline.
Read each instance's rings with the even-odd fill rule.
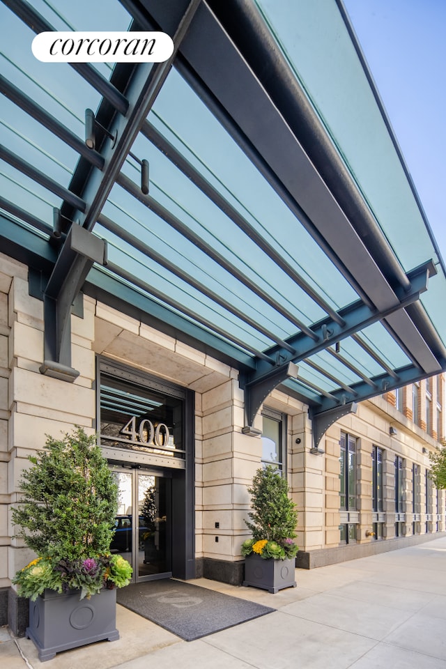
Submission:
[[[259,469],[248,488],[252,512],[245,521],[252,539],[242,545],[245,556],[243,585],[254,585],[276,593],[296,587],[294,543],[298,512],[288,495],[288,483],[271,465]]]

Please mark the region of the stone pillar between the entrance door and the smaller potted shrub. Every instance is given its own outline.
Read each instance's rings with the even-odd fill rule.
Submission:
[[[242,433],[243,391],[236,378],[204,392],[202,412],[203,576],[239,585],[241,544],[249,537],[247,487],[261,466],[261,439]],[[261,429],[261,416],[255,427]],[[197,500],[199,501],[199,500]]]

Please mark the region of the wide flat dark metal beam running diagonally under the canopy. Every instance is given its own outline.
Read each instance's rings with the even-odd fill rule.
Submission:
[[[153,15],[161,26],[166,21],[162,6],[157,3]],[[337,259],[337,267],[352,286],[359,286],[360,294],[371,305],[381,313],[386,312],[395,304],[395,291],[408,286],[401,267],[398,272],[401,281],[394,273],[395,281],[391,284],[372,256],[370,249],[379,247],[382,236],[378,226],[370,231],[372,238],[362,238],[360,231],[354,228],[277,109],[268,89],[261,85],[206,4],[197,13],[181,54],[225,109],[233,127],[245,133],[268,169],[305,212],[300,220],[309,233],[318,241],[324,240],[325,247],[331,249]],[[256,109],[254,121],[253,108]],[[398,342],[407,342],[408,346],[415,344],[414,354],[420,368],[434,373],[435,360],[429,346],[425,340],[417,339],[417,322],[401,314],[391,327],[399,337]]]

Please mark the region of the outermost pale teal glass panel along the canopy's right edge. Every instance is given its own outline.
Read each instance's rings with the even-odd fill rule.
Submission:
[[[445,272],[337,2],[255,2],[404,270],[438,266],[421,302],[445,332]]]

